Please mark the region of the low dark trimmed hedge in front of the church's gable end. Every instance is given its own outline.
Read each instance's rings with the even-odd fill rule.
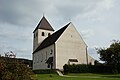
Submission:
[[[85,64],[73,64],[63,66],[64,73],[112,73],[112,66],[109,65],[85,65]]]

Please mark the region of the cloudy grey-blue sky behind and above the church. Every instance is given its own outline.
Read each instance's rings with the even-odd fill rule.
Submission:
[[[32,59],[33,30],[43,17],[57,31],[69,22],[99,59],[95,48],[120,40],[120,0],[0,0],[0,54]]]

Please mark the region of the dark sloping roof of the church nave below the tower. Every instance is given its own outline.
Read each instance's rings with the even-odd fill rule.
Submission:
[[[63,28],[59,29],[58,31],[47,37],[33,53],[54,44],[57,41],[57,39],[61,36],[61,34],[65,31],[65,29],[69,26],[69,24],[70,23],[68,23]]]

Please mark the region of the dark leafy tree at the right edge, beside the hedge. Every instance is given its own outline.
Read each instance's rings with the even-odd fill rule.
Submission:
[[[100,60],[113,66],[113,71],[120,73],[120,41],[114,40],[108,48],[97,49]]]

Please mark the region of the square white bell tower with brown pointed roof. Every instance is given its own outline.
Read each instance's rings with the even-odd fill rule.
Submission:
[[[43,16],[39,24],[33,31],[33,51],[42,43],[42,41],[50,36],[54,32],[54,29]]]

